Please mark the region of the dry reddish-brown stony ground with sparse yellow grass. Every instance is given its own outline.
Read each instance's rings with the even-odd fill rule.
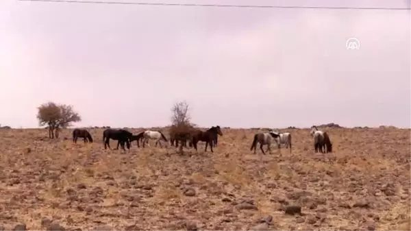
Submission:
[[[309,130],[290,130],[292,154],[273,147],[266,156],[249,151],[256,130],[223,130],[214,154],[200,145],[184,155],[153,141],[104,150],[102,130],[90,130],[87,145],[65,140],[71,130],[60,141],[42,138],[47,130],[2,130],[0,223],[229,231],[271,215],[269,230],[411,230],[411,130],[325,130],[333,154],[314,154]],[[288,204],[303,215],[286,215]]]

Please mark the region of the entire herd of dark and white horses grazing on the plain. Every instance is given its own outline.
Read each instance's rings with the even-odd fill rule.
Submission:
[[[332,143],[329,138],[327,132],[323,132],[318,130],[316,126],[311,127],[310,135],[314,139],[314,151],[321,152],[321,153],[329,153],[332,152]],[[171,145],[175,145],[175,147],[187,147],[187,143],[189,147],[194,147],[197,151],[197,143],[199,141],[206,143],[207,151],[208,146],[210,146],[211,152],[214,152],[212,147],[216,147],[218,143],[218,136],[223,136],[223,132],[221,132],[221,127],[219,125],[212,126],[210,129],[206,131],[202,130],[193,130],[193,131],[186,131],[186,132],[170,132],[170,143]],[[77,138],[83,138],[84,143],[92,143],[93,139],[90,134],[85,129],[76,128],[73,130],[73,142],[77,143]],[[146,130],[144,132],[140,132],[134,135],[132,132],[123,129],[112,129],[108,128],[105,129],[103,132],[103,143],[104,149],[111,149],[110,147],[110,139],[114,141],[118,141],[116,149],[121,148],[125,150],[125,145],[127,149],[130,149],[130,144],[132,141],[137,142],[137,146],[140,147],[140,141],[142,143],[142,147],[145,147],[145,144],[149,142],[149,140],[155,140],[155,146],[160,144],[162,147],[162,142],[168,143],[166,136],[162,134],[160,131],[151,131]],[[258,132],[254,135],[253,143],[251,144],[251,151],[254,150],[254,154],[256,154],[256,147],[258,143],[260,144],[260,149],[263,154],[266,154],[266,151],[271,153],[271,144],[276,143],[277,147],[280,149],[281,145],[285,145],[286,149],[292,149],[291,143],[291,134],[290,132],[274,132],[273,130],[269,130],[269,132]],[[266,151],[262,148],[264,145],[267,145]]]

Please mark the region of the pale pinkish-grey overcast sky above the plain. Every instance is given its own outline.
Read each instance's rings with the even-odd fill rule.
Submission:
[[[2,0],[0,21],[1,125],[38,127],[37,107],[54,101],[79,112],[74,127],[164,126],[187,101],[201,127],[411,127],[411,11]],[[360,48],[347,49],[349,38]]]

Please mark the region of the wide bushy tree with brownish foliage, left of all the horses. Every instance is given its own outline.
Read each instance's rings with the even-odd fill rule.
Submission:
[[[73,106],[55,104],[51,101],[38,107],[37,119],[40,126],[47,125],[49,138],[58,138],[58,132],[61,128],[82,121],[82,117],[73,110]]]

